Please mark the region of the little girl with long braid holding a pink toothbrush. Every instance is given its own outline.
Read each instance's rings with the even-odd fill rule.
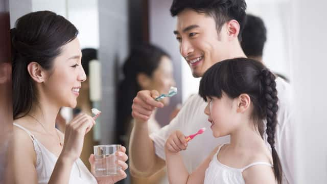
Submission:
[[[281,183],[282,167],[274,148],[278,110],[274,80],[262,63],[246,58],[224,60],[209,68],[199,88],[207,102],[204,113],[213,135],[230,135],[230,143],[218,145],[189,174],[178,152],[192,141],[187,143],[180,131],[173,132],[165,145],[170,183]]]

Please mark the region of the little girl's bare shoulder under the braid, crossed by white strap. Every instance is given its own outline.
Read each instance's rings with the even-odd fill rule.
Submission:
[[[265,152],[256,153],[250,158],[250,164],[255,162],[272,165],[271,157]],[[245,169],[242,174],[245,183],[275,183],[274,171],[269,165],[254,165]]]

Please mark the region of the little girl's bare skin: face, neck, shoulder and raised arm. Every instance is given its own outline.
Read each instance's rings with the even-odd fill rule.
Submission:
[[[205,170],[212,159],[218,159],[220,163],[238,169],[254,162],[272,164],[271,154],[260,136],[258,127],[253,126],[254,122],[250,119],[253,105],[248,95],[242,94],[236,99],[230,99],[226,95],[221,99],[207,97],[207,101],[204,113],[212,124],[213,135],[230,135],[230,144],[224,145],[217,157],[213,156],[219,146],[215,148],[202,164],[189,174],[179,154],[179,151],[187,149],[187,145],[183,145],[185,135],[180,131],[173,132],[165,145],[170,183],[203,183]],[[273,169],[269,166],[252,166],[242,174],[245,183],[275,183]]]

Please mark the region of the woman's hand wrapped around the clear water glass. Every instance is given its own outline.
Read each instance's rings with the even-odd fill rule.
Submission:
[[[119,152],[116,152],[116,156],[118,157],[118,164],[122,167],[122,169],[119,171],[119,175],[115,176],[96,176],[96,179],[99,184],[106,183],[106,184],[113,184],[117,181],[120,181],[124,178],[126,178],[125,170],[128,168],[128,165],[125,163],[128,159],[128,156],[126,155],[126,148],[124,146],[121,147],[121,150]],[[95,157],[94,154],[91,154],[88,158],[88,162],[91,164],[91,173],[95,174]]]

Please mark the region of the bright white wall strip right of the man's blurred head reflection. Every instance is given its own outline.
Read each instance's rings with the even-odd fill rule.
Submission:
[[[290,0],[248,0],[247,13],[259,16],[267,28],[263,62],[270,70],[290,77],[289,30]]]

